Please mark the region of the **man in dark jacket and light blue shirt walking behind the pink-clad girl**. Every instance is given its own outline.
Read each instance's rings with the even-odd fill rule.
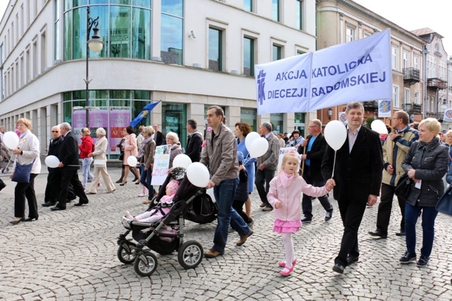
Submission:
[[[321,165],[327,144],[322,134],[322,122],[318,119],[311,120],[308,131],[310,135],[298,147],[298,153],[302,154],[301,158],[305,161],[303,179],[307,184],[323,187],[326,182],[321,174]],[[332,218],[332,204],[330,204],[328,196],[323,195],[318,197],[318,200],[326,211],[325,220],[330,220]],[[301,221],[310,222],[312,220],[312,197],[303,193],[301,204],[304,215]]]

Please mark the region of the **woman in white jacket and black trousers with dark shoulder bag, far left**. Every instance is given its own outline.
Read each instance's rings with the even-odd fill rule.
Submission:
[[[29,183],[17,183],[14,190],[14,220],[11,224],[17,225],[19,222],[31,222],[38,220],[38,204],[36,203],[35,195],[35,177],[41,172],[40,161],[40,144],[38,137],[31,133],[31,121],[26,118],[20,118],[16,122],[16,128],[20,133],[19,145],[13,149],[13,154],[16,156],[13,172],[10,174],[10,179],[13,179],[14,170],[17,163],[21,165],[29,165],[33,163],[30,174]],[[29,217],[25,218],[25,198],[29,203]]]

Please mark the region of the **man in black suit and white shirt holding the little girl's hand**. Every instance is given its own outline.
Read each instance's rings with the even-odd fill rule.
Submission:
[[[341,249],[334,259],[334,272],[342,274],[346,266],[358,260],[358,229],[366,205],[377,202],[382,181],[383,155],[380,136],[375,131],[362,126],[364,106],[359,101],[351,101],[346,108],[347,137],[344,145],[336,152],[327,147],[322,162],[323,179],[333,175],[336,186],[334,199],[339,204],[344,234]]]

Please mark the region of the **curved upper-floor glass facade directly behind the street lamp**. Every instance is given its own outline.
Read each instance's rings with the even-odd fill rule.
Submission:
[[[86,58],[87,5],[87,0],[65,0],[64,60]],[[104,41],[102,51],[90,51],[91,58],[150,59],[151,0],[90,0],[89,5]]]

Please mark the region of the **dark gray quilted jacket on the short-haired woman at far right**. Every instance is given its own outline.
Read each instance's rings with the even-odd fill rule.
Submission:
[[[416,179],[422,180],[421,189],[411,186],[410,196],[407,203],[415,206],[434,207],[444,193],[444,183],[442,178],[449,166],[449,149],[439,143],[421,146],[419,141],[412,143],[402,168],[407,172],[410,169],[416,170]]]

